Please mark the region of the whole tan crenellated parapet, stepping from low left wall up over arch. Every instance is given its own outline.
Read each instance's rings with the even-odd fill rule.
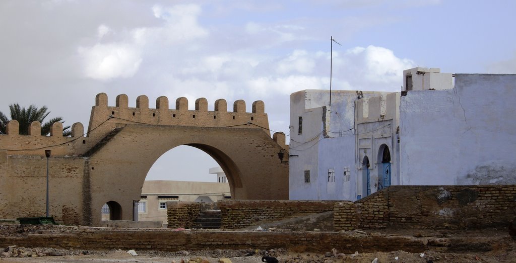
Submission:
[[[38,121],[30,125],[29,135],[20,135],[18,121],[11,120],[7,133],[0,135],[0,149],[13,155],[44,156],[44,150],[51,149],[53,156],[78,156],[88,152],[111,131],[126,124],[263,129],[270,136],[265,103],[261,100],[252,103],[251,112],[246,112],[244,100],[236,100],[233,111],[228,111],[228,103],[224,99],[216,100],[214,111],[208,111],[206,98],[197,99],[195,110],[188,110],[187,98],[176,99],[175,109],[169,109],[168,98],[161,96],[156,99],[155,108],[151,109],[149,98],[145,95],[136,98],[136,108],[130,108],[125,94],[116,97],[116,106],[108,106],[107,95],[99,93],[91,109],[86,137],[84,126],[79,122],[72,125],[72,135],[65,137],[62,136],[60,122],[54,123],[50,136],[44,136],[40,135],[41,124]]]

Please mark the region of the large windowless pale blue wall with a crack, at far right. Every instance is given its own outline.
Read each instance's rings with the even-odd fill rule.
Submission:
[[[516,184],[516,75],[455,85],[401,97],[401,184]]]

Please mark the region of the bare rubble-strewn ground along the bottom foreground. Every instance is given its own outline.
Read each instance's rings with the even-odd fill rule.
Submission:
[[[49,230],[66,231],[59,227]],[[26,228],[27,230],[27,228]],[[30,230],[30,229],[28,229]],[[28,234],[26,231],[17,233],[17,228],[12,226],[0,226],[0,236],[20,236]],[[341,254],[338,251],[326,253],[310,253],[300,251],[287,251],[284,249],[272,250],[205,250],[205,251],[85,251],[63,250],[53,248],[20,248],[6,247],[1,253],[0,263],[8,262],[262,262],[263,255],[276,257],[279,262],[516,262],[516,241],[511,239],[505,230],[482,231],[421,231],[421,230],[383,230],[367,232],[375,235],[410,235],[415,237],[436,235],[461,235],[464,238],[478,240],[479,237],[495,237],[497,240],[490,244],[491,250],[487,252],[464,251],[461,253],[449,253],[440,251],[421,251],[409,253],[405,251],[374,252],[354,254]],[[476,251],[481,251],[476,250]],[[133,255],[131,255],[130,253]],[[8,257],[7,257],[8,256]],[[375,261],[376,260],[376,261]]]

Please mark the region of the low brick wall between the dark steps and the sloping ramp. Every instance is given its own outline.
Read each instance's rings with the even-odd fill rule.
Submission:
[[[222,213],[221,229],[270,223],[308,214],[333,211],[335,201],[224,200],[218,202]]]

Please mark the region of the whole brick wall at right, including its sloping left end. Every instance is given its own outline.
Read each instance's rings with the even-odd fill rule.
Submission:
[[[516,217],[516,185],[390,186],[354,204],[336,204],[334,215],[335,230],[506,226]]]

